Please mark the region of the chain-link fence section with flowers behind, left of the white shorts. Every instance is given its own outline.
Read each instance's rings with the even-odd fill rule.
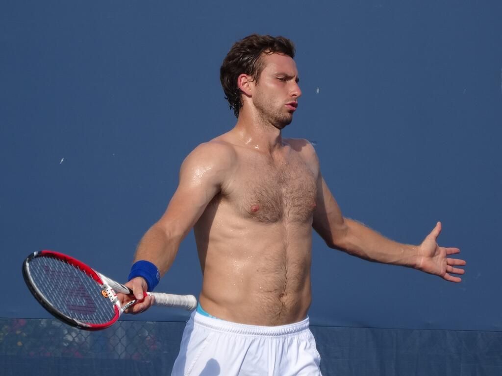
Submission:
[[[56,319],[0,318],[0,374],[169,374],[184,327],[122,320],[85,331]]]

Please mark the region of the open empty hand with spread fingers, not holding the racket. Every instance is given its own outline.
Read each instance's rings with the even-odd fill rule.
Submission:
[[[438,275],[450,282],[460,282],[462,280],[460,277],[454,277],[451,274],[464,274],[464,270],[456,266],[465,265],[465,261],[448,257],[459,253],[460,250],[458,248],[440,247],[437,243],[440,233],[441,222],[438,222],[418,247],[417,269]]]

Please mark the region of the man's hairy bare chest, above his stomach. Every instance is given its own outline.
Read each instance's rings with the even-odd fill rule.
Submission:
[[[265,223],[308,222],[316,203],[316,176],[300,158],[248,161],[234,191],[237,210]]]

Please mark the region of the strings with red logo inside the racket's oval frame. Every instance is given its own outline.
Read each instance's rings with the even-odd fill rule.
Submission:
[[[115,316],[113,304],[102,295],[101,286],[85,271],[54,257],[35,257],[30,278],[43,298],[63,315],[92,324],[106,323]]]

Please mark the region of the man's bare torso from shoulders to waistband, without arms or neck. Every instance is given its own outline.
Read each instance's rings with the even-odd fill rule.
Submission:
[[[319,176],[313,147],[284,139],[269,155],[236,141],[232,132],[212,141],[231,149],[232,163],[229,179],[194,227],[204,274],[200,303],[228,321],[300,321],[311,300]]]

